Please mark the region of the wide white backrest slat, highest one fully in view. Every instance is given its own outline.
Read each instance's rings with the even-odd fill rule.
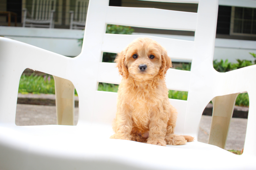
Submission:
[[[136,20],[134,18],[136,18]],[[197,13],[194,12],[171,11],[155,8],[109,6],[106,16],[107,24],[186,31],[195,31],[196,21]]]

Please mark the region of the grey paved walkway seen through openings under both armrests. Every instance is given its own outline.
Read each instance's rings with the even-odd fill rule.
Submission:
[[[202,115],[198,141],[207,143],[210,133],[211,116]],[[75,108],[75,125],[78,121],[78,108]],[[56,106],[17,104],[16,125],[56,124]],[[241,150],[245,142],[247,119],[232,118],[226,149]]]

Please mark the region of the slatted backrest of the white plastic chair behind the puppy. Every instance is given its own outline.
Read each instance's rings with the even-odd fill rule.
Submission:
[[[210,9],[207,8],[208,5],[211,5]],[[98,82],[119,84],[121,81],[121,77],[118,76],[118,70],[114,67],[115,64],[101,62],[102,53],[121,52],[131,41],[141,37],[139,35],[106,34],[106,24],[195,31],[195,41],[148,37],[165,47],[168,51],[168,56],[171,58],[192,60],[191,72],[169,69],[166,75],[166,85],[169,90],[188,91],[189,94],[187,101],[170,99],[171,104],[178,109],[179,113],[176,133],[197,136],[202,111],[212,98],[204,101],[201,108],[198,108],[196,105],[196,113],[191,110],[193,106],[190,103],[195,101],[194,96],[191,96],[191,90],[193,91],[193,88],[190,87],[191,73],[196,72],[196,70],[194,71],[194,66],[200,65],[200,62],[205,59],[208,61],[207,64],[212,67],[217,12],[217,1],[200,1],[198,13],[154,8],[111,7],[108,6],[108,1],[101,1],[100,3],[91,1],[89,3],[84,44],[82,47],[83,52],[77,60],[84,60],[79,63],[84,63],[86,70],[90,70],[91,74],[93,73],[93,76],[91,75],[90,77],[94,77],[94,80],[90,84],[94,84],[94,89],[97,90],[96,85]],[[202,53],[202,51],[207,51],[207,53]],[[85,63],[88,57],[85,59],[86,57],[84,56],[94,57],[90,57],[90,62]],[[94,72],[95,69],[97,74]],[[209,69],[211,69],[210,66],[208,66],[207,70]],[[87,75],[84,74],[84,76]],[[94,99],[88,101],[87,111],[85,111],[87,114],[80,114],[80,118],[87,120],[90,117],[93,118],[92,121],[110,124],[116,112],[116,105],[113,104],[113,101],[116,102],[117,94],[108,93],[108,95],[104,95],[106,92],[94,92],[89,88],[86,88],[86,90],[88,90],[87,96],[90,94],[89,98]],[[88,113],[91,110],[89,109],[91,106],[94,106],[91,108],[93,111]],[[109,114],[106,114],[106,112]],[[194,117],[193,125],[190,124],[191,119],[186,118],[189,115]],[[187,124],[189,125],[186,126]]]

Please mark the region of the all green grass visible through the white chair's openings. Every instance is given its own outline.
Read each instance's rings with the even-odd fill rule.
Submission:
[[[118,85],[99,83],[98,91],[110,91],[117,92]],[[45,93],[45,94],[55,94],[54,79],[52,75],[24,75],[22,74],[19,83],[19,93]],[[75,90],[75,95],[77,91]],[[169,90],[169,98],[187,100],[188,92]],[[236,105],[238,106],[249,106],[249,96],[247,93],[242,93],[237,96]]]

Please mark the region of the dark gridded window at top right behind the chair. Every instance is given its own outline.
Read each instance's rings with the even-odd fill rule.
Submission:
[[[256,8],[232,7],[230,35],[256,35]]]

